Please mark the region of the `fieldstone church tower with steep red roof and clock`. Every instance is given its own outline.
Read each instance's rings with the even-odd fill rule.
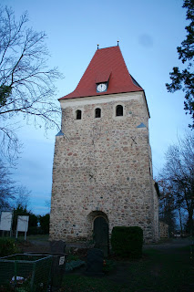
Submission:
[[[108,244],[114,226],[158,240],[148,104],[120,48],[97,49],[75,89],[59,99],[50,238]]]

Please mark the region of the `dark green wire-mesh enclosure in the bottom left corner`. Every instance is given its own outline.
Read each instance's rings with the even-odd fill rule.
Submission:
[[[0,258],[0,291],[44,292],[47,290],[51,255],[9,255]]]

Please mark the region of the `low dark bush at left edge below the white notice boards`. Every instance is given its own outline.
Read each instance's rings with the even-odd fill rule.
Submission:
[[[11,238],[2,237],[0,238],[0,257],[6,255],[14,255],[19,253],[15,240]]]

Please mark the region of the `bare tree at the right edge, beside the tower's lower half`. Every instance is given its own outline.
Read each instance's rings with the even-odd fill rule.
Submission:
[[[194,136],[188,132],[178,145],[172,145],[166,153],[166,164],[160,174],[170,186],[176,209],[188,214],[189,232],[193,233],[194,209]]]

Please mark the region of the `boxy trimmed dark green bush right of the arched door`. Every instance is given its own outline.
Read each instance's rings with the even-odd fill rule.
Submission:
[[[138,226],[116,226],[112,230],[111,245],[116,255],[139,258],[142,255],[143,230]]]

